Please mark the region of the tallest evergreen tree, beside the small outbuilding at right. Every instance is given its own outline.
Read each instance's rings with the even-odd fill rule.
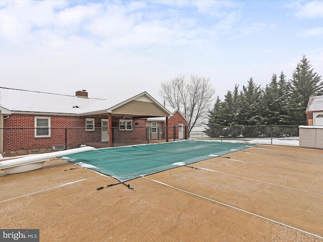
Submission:
[[[323,83],[320,81],[321,76],[313,72],[312,65],[303,55],[291,80],[291,98],[287,105],[290,124],[306,125],[305,109],[309,97],[323,93]]]

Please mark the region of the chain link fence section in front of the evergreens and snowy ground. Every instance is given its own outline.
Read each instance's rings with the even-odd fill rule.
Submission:
[[[255,144],[299,145],[298,126],[211,126],[196,127],[190,139]]]

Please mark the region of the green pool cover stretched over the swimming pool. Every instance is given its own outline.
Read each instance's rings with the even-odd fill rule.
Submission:
[[[181,141],[90,150],[59,158],[127,181],[214,158],[256,144]]]

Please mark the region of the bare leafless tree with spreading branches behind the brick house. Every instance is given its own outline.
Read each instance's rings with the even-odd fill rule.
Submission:
[[[178,75],[169,82],[161,83],[159,96],[174,109],[179,109],[188,120],[188,133],[207,117],[216,90],[209,78]]]

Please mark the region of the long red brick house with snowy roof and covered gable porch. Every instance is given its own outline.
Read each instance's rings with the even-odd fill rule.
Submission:
[[[160,117],[161,135],[148,137],[156,129],[147,119]],[[113,147],[147,138],[168,142],[173,129],[166,127],[180,124],[187,125],[180,113],[173,114],[147,92],[104,100],[89,98],[86,90],[71,96],[0,87],[0,153]]]

